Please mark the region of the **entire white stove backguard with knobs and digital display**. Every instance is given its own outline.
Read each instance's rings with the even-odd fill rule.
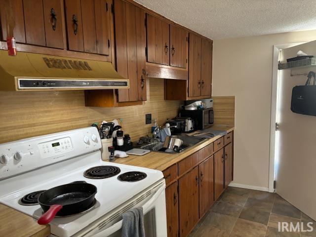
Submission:
[[[100,135],[95,127],[0,144],[0,180],[92,153],[101,147]]]

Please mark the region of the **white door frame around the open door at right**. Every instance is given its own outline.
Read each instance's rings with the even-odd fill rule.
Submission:
[[[269,185],[268,191],[275,192],[274,181],[276,178],[276,122],[278,121],[278,89],[279,71],[278,61],[280,51],[285,48],[293,47],[306,42],[284,43],[273,45],[273,70],[272,70],[272,92],[271,92],[271,119],[270,119],[270,155],[269,155]]]

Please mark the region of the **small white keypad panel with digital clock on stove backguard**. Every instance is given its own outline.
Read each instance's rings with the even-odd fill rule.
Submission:
[[[61,154],[73,150],[73,145],[70,137],[65,137],[58,140],[44,142],[39,144],[41,158]]]

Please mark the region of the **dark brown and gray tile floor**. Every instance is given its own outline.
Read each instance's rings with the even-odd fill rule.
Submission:
[[[278,232],[278,222],[314,221],[277,194],[228,187],[190,237],[316,237],[313,232]]]

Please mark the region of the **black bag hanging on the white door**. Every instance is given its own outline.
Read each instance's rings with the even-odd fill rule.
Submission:
[[[313,85],[310,85],[313,77]],[[316,116],[316,76],[310,72],[305,85],[297,85],[292,90],[291,111],[302,115]]]

